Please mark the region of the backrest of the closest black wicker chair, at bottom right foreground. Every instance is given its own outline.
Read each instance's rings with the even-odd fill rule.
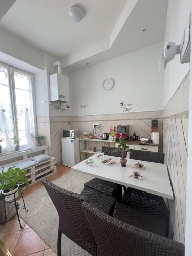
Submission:
[[[184,245],[179,242],[126,224],[87,202],[82,207],[97,243],[98,256],[184,256]]]

